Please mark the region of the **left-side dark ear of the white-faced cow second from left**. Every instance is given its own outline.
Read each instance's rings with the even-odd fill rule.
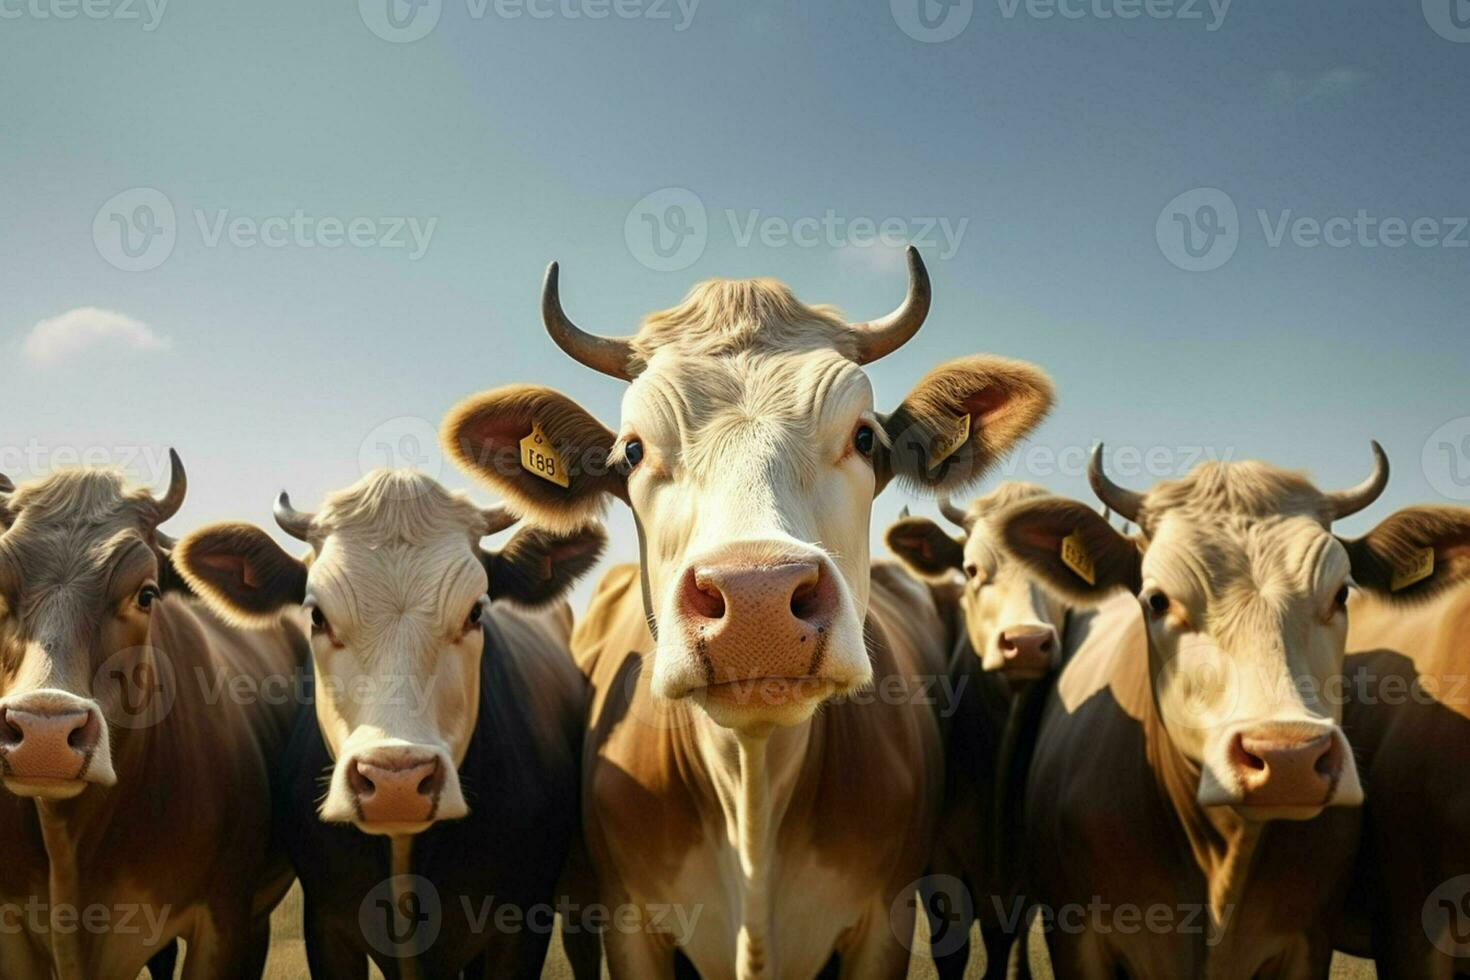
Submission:
[[[172,560],[196,595],[241,626],[268,626],[281,610],[306,601],[306,564],[251,525],[185,535]]]

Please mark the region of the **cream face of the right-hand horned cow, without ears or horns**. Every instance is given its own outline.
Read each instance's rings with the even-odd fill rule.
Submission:
[[[1363,802],[1339,727],[1349,572],[1316,517],[1158,520],[1141,592],[1154,698],[1201,767],[1201,804],[1311,817]]]

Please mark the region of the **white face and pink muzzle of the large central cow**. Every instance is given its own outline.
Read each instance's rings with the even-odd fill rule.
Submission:
[[[651,360],[613,455],[642,536],[656,693],[739,727],[800,721],[869,682],[879,432],[867,378],[833,351]]]

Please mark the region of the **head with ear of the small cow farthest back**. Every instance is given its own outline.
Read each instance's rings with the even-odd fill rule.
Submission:
[[[1003,547],[994,517],[1007,505],[1047,497],[1035,483],[1007,482],[969,510],[941,501],[941,513],[964,533],[951,536],[928,517],[903,517],[888,529],[888,548],[926,579],[964,574],[960,608],[970,646],[985,670],[1035,680],[1061,663],[1067,604]]]

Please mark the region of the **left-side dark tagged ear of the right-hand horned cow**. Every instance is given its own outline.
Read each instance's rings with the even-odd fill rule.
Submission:
[[[1005,550],[1064,598],[1097,605],[1116,589],[1144,588],[1138,541],[1120,535],[1095,510],[1075,500],[1030,500],[992,522]]]

